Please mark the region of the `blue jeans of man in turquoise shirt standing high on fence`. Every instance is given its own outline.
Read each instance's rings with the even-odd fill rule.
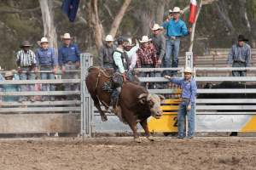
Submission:
[[[166,39],[166,56],[164,59],[164,65],[166,68],[177,68],[178,66],[178,53],[179,53],[180,38],[175,40],[171,38]],[[166,71],[166,75],[177,74],[177,71]]]

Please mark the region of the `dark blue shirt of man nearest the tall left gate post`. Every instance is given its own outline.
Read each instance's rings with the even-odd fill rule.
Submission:
[[[66,64],[68,61],[77,62],[80,60],[79,55],[80,50],[76,44],[62,46],[59,48],[59,65]]]

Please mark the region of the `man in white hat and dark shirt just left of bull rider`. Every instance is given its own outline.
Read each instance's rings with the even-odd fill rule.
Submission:
[[[105,38],[105,43],[99,50],[100,65],[104,68],[113,68],[113,51],[115,50],[113,45],[113,37],[108,35]]]

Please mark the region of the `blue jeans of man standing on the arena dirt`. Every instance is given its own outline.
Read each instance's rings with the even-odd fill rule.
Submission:
[[[184,138],[186,133],[184,131],[185,118],[188,116],[189,131],[188,137],[193,137],[195,133],[195,103],[191,104],[191,110],[187,111],[189,101],[182,101],[179,105],[179,111],[177,113],[177,136]]]

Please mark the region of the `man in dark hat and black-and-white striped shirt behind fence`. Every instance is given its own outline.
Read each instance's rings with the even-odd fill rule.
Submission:
[[[35,80],[35,73],[38,71],[36,68],[36,55],[29,49],[32,45],[28,41],[22,42],[20,45],[21,50],[16,54],[16,64],[18,66],[18,72],[20,74],[20,80]],[[34,85],[20,85],[21,92],[34,91]],[[25,101],[26,97],[21,96],[19,101]],[[35,101],[34,96],[30,98],[32,102]]]

